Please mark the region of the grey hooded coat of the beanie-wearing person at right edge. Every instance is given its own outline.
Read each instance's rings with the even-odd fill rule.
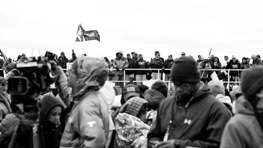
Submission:
[[[261,126],[251,103],[244,96],[236,100],[236,111],[225,126],[220,148],[263,148]]]

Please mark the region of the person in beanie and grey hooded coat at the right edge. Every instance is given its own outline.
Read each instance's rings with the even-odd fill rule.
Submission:
[[[243,95],[236,99],[236,114],[224,128],[220,148],[263,147],[263,67],[254,66],[241,76]]]

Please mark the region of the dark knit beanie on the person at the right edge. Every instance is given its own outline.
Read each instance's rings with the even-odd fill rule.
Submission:
[[[241,75],[241,90],[248,101],[254,99],[257,92],[263,89],[263,67],[253,66]]]

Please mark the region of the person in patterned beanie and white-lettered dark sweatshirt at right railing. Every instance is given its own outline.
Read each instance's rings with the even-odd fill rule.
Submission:
[[[236,57],[234,55],[232,56],[232,60],[228,62],[225,69],[240,69],[240,63],[237,62]],[[233,81],[237,82],[240,74],[239,71],[229,71],[229,72]],[[238,85],[238,84],[234,83],[234,85]]]

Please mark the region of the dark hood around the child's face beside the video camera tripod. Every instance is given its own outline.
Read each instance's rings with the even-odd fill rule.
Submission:
[[[47,116],[50,110],[56,106],[60,106],[62,109],[61,113],[63,113],[64,107],[60,103],[59,99],[57,99],[52,93],[46,93],[43,95],[43,99],[41,101],[40,119],[44,128],[47,123]]]

